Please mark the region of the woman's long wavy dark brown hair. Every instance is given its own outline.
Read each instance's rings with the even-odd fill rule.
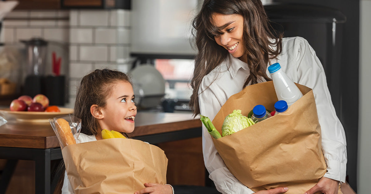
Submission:
[[[250,75],[243,87],[258,81],[269,81],[266,75],[267,64],[282,50],[282,34],[273,35],[267,14],[261,0],[205,0],[200,12],[193,19],[192,34],[198,49],[191,86],[193,94],[190,107],[195,115],[200,114],[198,89],[202,78],[209,74],[228,56],[228,51],[218,45],[214,35],[221,35],[213,23],[213,14],[238,14],[244,18],[243,44]],[[272,31],[271,31],[272,30]]]

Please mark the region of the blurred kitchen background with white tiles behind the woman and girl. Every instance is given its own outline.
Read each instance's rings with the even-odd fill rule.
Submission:
[[[81,78],[94,69],[112,68],[132,75],[141,111],[190,112],[196,54],[190,20],[202,0],[18,2],[1,20],[0,106],[40,90],[59,92],[62,98],[51,104],[72,108]],[[302,36],[315,49],[347,136],[347,180],[357,193],[370,193],[371,0],[263,4],[277,30]],[[38,75],[59,81],[45,90],[32,82]]]

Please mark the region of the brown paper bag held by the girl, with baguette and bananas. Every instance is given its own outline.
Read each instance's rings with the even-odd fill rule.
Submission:
[[[145,182],[166,184],[164,151],[140,140],[78,143],[63,148],[62,154],[75,194],[133,194]]]

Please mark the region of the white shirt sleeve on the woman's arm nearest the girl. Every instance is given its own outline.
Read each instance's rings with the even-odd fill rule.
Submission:
[[[201,114],[213,120],[221,108],[221,103],[211,88],[209,85],[201,83],[198,100]],[[214,181],[219,192],[223,194],[255,193],[237,180],[227,169],[227,166],[214,146],[209,132],[207,132],[204,126],[202,126],[202,148],[205,166],[210,173],[209,178]]]

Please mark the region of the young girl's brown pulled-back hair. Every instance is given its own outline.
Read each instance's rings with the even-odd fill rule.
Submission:
[[[93,104],[98,105],[98,107],[105,107],[106,98],[112,94],[110,85],[119,81],[131,84],[125,73],[111,69],[96,69],[82,78],[73,108],[74,116],[81,119],[81,133],[86,135],[101,133],[98,122],[90,113],[90,107]]]

